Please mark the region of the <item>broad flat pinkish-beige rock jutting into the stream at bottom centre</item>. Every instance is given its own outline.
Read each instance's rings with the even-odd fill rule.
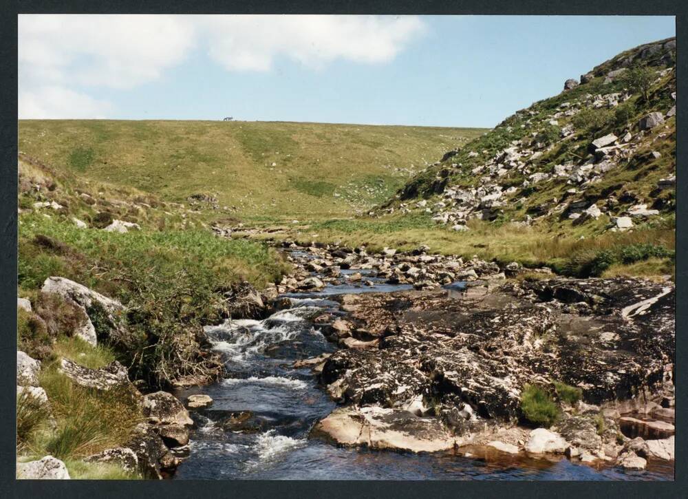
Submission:
[[[338,445],[407,452],[439,452],[455,446],[455,438],[438,420],[378,406],[336,409],[314,426],[310,436]]]

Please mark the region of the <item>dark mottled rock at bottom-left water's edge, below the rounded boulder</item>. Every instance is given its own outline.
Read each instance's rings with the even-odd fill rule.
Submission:
[[[153,426],[140,423],[126,444],[136,454],[138,469],[144,477],[163,478],[173,471],[180,460],[166,447]]]

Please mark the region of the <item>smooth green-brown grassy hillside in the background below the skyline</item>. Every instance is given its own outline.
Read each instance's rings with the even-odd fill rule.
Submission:
[[[383,202],[484,129],[322,123],[21,120],[19,150],[166,200],[253,218],[334,217]],[[224,206],[227,209],[224,209]]]

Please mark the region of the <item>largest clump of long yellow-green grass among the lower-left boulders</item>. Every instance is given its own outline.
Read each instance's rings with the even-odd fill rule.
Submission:
[[[58,372],[55,364],[44,368],[39,377],[57,421],[56,431],[43,442],[46,454],[82,458],[124,445],[142,421],[134,394],[125,388],[80,387]]]

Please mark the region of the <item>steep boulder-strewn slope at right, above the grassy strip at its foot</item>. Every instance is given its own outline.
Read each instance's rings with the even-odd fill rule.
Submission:
[[[561,94],[405,185],[374,213],[428,213],[593,233],[671,219],[676,182],[676,39],[641,45],[569,79]]]

